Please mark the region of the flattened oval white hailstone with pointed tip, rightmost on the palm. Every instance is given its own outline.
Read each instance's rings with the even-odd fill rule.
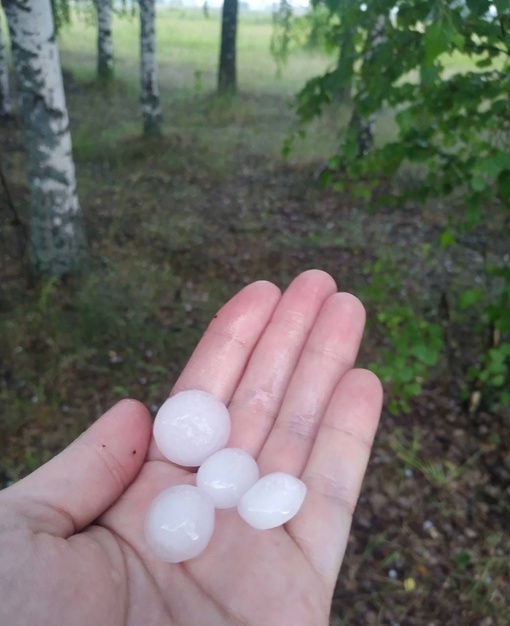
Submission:
[[[267,474],[241,498],[237,506],[244,521],[257,530],[276,528],[296,515],[306,495],[306,485],[284,472]]]

